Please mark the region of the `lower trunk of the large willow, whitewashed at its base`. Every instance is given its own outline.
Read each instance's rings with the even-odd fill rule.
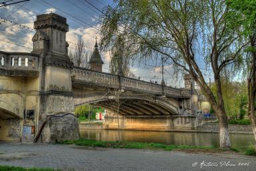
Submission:
[[[221,107],[213,107],[217,114],[219,120],[219,148],[231,148],[230,138],[229,138],[229,129],[227,124],[227,115]]]

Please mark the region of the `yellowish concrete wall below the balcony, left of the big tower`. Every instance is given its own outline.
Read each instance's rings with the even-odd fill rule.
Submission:
[[[0,140],[20,141],[23,127],[36,127],[39,115],[39,78],[0,76]],[[35,91],[35,94],[27,93]],[[24,110],[34,110],[35,119],[24,119]],[[31,135],[32,136],[32,135]],[[33,137],[26,139],[32,141]]]

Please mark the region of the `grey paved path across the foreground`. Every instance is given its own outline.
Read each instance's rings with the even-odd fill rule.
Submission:
[[[201,162],[212,166],[202,166]],[[229,166],[222,165],[229,162]],[[237,166],[249,162],[249,166]],[[235,166],[230,166],[235,164]],[[164,150],[84,148],[73,145],[0,143],[0,165],[61,170],[256,170],[256,157],[188,154]]]

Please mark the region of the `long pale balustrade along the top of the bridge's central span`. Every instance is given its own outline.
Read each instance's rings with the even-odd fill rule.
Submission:
[[[124,90],[151,93],[155,95],[190,97],[190,90],[188,89],[177,89],[122,76],[119,78],[119,76],[114,74],[95,72],[85,68],[73,68],[71,75],[73,84],[96,85],[109,88],[120,87]]]

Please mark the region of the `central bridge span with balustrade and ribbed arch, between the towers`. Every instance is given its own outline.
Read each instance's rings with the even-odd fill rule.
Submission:
[[[121,115],[178,115],[184,99],[190,99],[190,89],[176,89],[84,68],[73,68],[71,78],[74,105],[90,103],[116,113],[120,93]]]

